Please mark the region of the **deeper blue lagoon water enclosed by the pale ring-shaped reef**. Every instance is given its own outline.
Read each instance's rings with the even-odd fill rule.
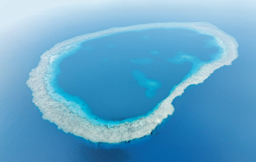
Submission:
[[[206,48],[209,41],[212,46]],[[58,84],[84,100],[99,118],[134,118],[151,111],[192,68],[189,61],[170,59],[183,53],[209,61],[220,52],[217,47],[211,36],[187,29],[118,33],[86,41],[76,54],[64,59]],[[148,89],[134,79],[136,71],[160,85],[147,95]]]

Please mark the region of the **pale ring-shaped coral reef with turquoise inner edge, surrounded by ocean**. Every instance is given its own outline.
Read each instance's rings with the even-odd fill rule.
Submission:
[[[174,86],[169,96],[144,116],[119,122],[104,121],[93,116],[89,110],[81,111],[77,103],[66,100],[55,91],[52,83],[58,76],[60,62],[80,49],[84,41],[115,33],[162,28],[183,28],[211,35],[222,48],[222,53],[217,59],[202,64],[197,71]],[[56,44],[42,54],[38,66],[29,73],[27,84],[32,90],[33,102],[43,114],[42,118],[55,123],[59,129],[92,142],[121,143],[150,135],[157,125],[173,114],[173,99],[180,96],[191,84],[203,83],[214,70],[224,65],[231,65],[238,57],[237,48],[238,43],[235,38],[207,22],[165,22],[113,27]]]

